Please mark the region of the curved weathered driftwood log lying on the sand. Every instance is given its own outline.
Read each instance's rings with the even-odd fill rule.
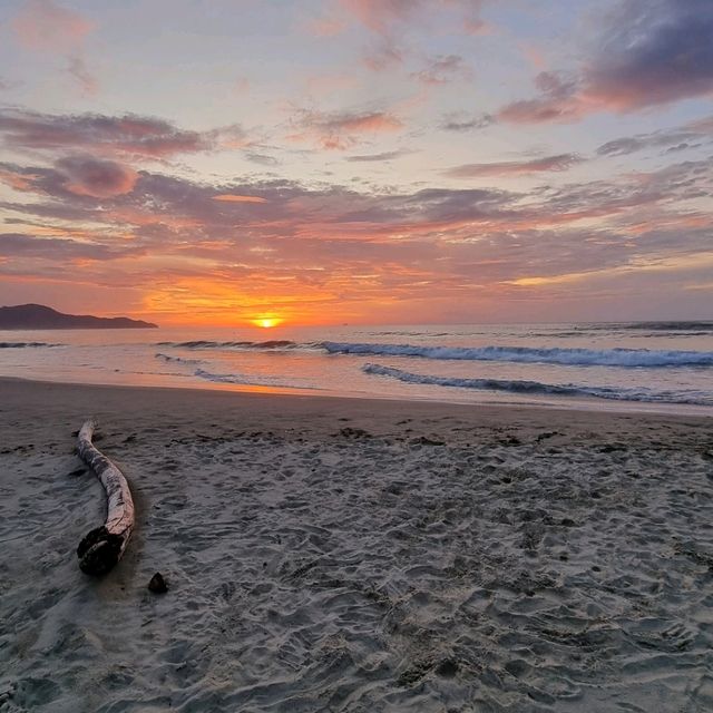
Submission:
[[[107,521],[87,533],[77,547],[79,568],[88,575],[109,572],[126,549],[134,529],[134,500],[124,473],[91,442],[94,419],[79,431],[79,457],[96,473],[107,492]]]

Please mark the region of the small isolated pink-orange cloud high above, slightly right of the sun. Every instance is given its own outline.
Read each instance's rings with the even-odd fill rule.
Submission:
[[[303,113],[301,134],[294,139],[312,137],[322,148],[345,150],[359,144],[364,135],[398,131],[403,123],[389,111]]]

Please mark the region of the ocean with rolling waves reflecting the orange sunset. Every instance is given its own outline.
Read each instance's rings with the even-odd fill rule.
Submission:
[[[713,322],[3,331],[0,375],[713,414]]]

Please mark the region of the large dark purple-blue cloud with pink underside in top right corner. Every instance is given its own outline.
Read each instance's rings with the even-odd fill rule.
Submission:
[[[606,13],[576,77],[538,75],[540,96],[514,101],[504,121],[574,121],[595,111],[627,113],[713,92],[710,0],[621,0]]]

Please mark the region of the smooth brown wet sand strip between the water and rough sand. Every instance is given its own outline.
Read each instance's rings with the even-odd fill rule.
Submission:
[[[473,404],[431,400],[402,400],[394,398],[360,398],[328,395],[316,393],[284,393],[272,388],[255,390],[201,389],[186,387],[137,387],[123,384],[79,384],[56,381],[36,381],[21,378],[0,377],[0,390],[6,406],[22,406],[50,410],[74,411],[79,416],[89,416],[94,409],[101,418],[111,413],[121,413],[129,403],[141,403],[139,411],[155,418],[159,413],[180,414],[191,402],[187,412],[183,412],[182,422],[191,421],[186,416],[205,418],[213,411],[225,411],[231,418],[245,420],[245,408],[250,408],[251,418],[262,418],[274,427],[290,419],[309,417],[321,428],[334,426],[334,419],[348,414],[355,420],[368,422],[370,417],[379,416],[380,421],[393,421],[395,424],[404,418],[416,424],[428,427],[434,419],[447,419],[482,427],[547,428],[547,424],[574,428],[592,433],[597,429],[614,432],[623,428],[623,433],[639,430],[645,422],[690,424],[696,428],[713,427],[713,419],[706,414],[628,412],[592,409],[570,409],[561,406],[540,404]],[[47,403],[51,395],[51,402]],[[6,409],[0,411],[0,416]],[[48,410],[48,414],[49,414]],[[318,418],[319,417],[319,418]],[[227,426],[227,424],[226,424]]]

